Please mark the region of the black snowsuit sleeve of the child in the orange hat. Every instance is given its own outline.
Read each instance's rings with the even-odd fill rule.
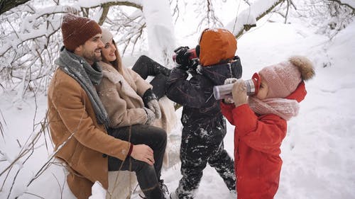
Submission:
[[[172,69],[166,83],[166,96],[171,101],[182,106],[200,108],[204,104],[204,93],[200,89],[197,79],[187,80],[188,74],[185,70]]]

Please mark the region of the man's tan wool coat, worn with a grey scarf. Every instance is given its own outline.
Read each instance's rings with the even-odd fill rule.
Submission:
[[[108,188],[108,154],[126,159],[130,143],[107,135],[97,123],[82,86],[61,69],[48,88],[48,123],[55,156],[67,165],[67,183],[77,198],[88,198],[95,181]]]

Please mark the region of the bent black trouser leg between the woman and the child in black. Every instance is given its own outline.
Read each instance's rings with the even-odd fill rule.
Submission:
[[[158,99],[165,95],[165,84],[170,75],[170,69],[163,67],[146,55],[142,55],[137,59],[132,70],[138,73],[143,79],[147,79],[148,76],[154,76],[151,81],[153,93]]]

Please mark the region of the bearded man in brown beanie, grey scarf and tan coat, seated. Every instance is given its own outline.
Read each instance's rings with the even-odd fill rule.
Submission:
[[[164,198],[155,166],[163,161],[164,130],[138,138],[107,134],[109,119],[95,89],[102,79],[97,64],[104,47],[101,37],[95,21],[64,16],[65,48],[55,60],[58,69],[48,88],[48,122],[56,157],[67,166],[67,183],[77,198],[89,198],[95,181],[108,188],[108,157],[119,159],[117,170],[136,171],[146,198]]]

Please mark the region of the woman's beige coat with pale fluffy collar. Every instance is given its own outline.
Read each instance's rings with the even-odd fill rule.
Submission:
[[[132,69],[122,67],[121,75],[110,64],[99,62],[104,77],[97,91],[109,115],[110,127],[145,124],[142,96],[152,86]]]

